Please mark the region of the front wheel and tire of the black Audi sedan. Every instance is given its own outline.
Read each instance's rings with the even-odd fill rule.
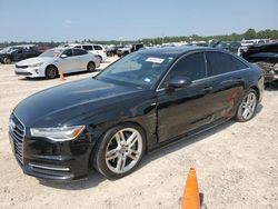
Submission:
[[[133,123],[123,123],[108,130],[93,150],[93,167],[109,179],[131,173],[146,150],[143,130]]]

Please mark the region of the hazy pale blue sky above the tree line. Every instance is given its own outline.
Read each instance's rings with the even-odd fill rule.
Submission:
[[[278,29],[278,0],[0,0],[0,42]]]

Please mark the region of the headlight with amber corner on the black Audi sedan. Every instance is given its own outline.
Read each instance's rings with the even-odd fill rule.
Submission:
[[[60,127],[60,128],[31,128],[32,137],[46,137],[53,141],[68,141],[77,138],[85,126]]]

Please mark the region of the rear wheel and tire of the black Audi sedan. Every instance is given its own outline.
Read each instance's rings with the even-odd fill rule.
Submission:
[[[254,118],[258,104],[258,93],[254,89],[249,91],[242,98],[236,113],[236,121],[246,122]]]

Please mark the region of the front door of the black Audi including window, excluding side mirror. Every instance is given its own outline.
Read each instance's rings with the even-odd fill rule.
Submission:
[[[163,88],[171,77],[183,76],[192,80],[185,89],[172,92]],[[197,52],[181,58],[170,70],[158,90],[158,137],[166,141],[211,121],[211,83],[206,79],[205,54]]]

